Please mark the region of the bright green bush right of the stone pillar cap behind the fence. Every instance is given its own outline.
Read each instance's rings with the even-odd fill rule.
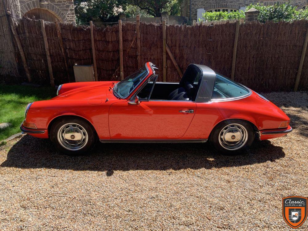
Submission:
[[[298,11],[296,10],[296,6],[290,5],[290,3],[284,3],[279,5],[276,3],[273,6],[264,6],[263,4],[250,4],[246,7],[246,11],[255,8],[260,11],[260,14],[258,16],[259,22],[266,22],[266,21],[273,21],[273,22],[279,22],[279,21],[286,21],[290,22],[294,19],[297,19]]]

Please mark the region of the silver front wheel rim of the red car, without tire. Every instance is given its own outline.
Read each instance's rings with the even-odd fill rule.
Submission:
[[[58,130],[58,141],[63,148],[78,151],[88,143],[88,133],[81,125],[68,123]]]

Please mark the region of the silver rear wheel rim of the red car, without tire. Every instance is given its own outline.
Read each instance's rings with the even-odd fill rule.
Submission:
[[[219,133],[219,144],[227,150],[242,148],[248,140],[248,132],[241,124],[229,124]]]

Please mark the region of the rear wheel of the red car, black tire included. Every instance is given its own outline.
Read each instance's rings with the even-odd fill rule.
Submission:
[[[224,131],[222,131],[223,129]],[[228,131],[230,133],[228,133]],[[253,130],[253,126],[249,122],[245,120],[234,119],[225,120],[219,123],[213,129],[209,140],[212,146],[221,154],[239,155],[245,152],[245,150],[247,150],[251,146],[254,140],[254,136],[255,133]],[[239,137],[241,137],[241,139],[238,141]],[[232,139],[234,139],[234,142]]]

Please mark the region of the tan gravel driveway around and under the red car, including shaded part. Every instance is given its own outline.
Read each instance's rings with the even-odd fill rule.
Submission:
[[[263,95],[294,131],[244,156],[209,144],[100,144],[68,157],[48,140],[10,141],[0,147],[0,229],[291,230],[282,197],[308,196],[308,95]]]

